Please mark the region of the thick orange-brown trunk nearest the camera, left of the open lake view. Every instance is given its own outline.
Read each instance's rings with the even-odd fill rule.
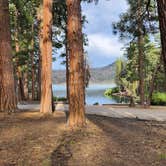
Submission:
[[[84,57],[80,0],[67,0],[67,41],[69,47],[70,127],[85,124]]]

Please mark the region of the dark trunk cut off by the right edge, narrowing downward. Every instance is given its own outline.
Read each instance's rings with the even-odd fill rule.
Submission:
[[[166,75],[166,1],[157,0],[159,25],[161,34],[162,56],[164,61],[165,75]]]

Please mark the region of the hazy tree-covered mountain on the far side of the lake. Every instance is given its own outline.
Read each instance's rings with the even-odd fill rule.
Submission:
[[[112,63],[110,65],[101,67],[101,68],[91,68],[91,78],[90,83],[104,84],[112,83],[115,78],[116,64]],[[54,84],[63,84],[66,80],[65,70],[55,70],[53,71],[53,83]]]

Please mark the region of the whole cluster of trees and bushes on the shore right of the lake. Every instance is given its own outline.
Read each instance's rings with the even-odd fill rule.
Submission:
[[[128,11],[120,15],[120,21],[113,23],[114,34],[125,43],[124,56],[116,61],[117,88],[106,91],[105,95],[130,97],[132,105],[135,102],[142,106],[164,105],[166,77],[157,4],[148,1],[147,11],[146,0],[133,2],[128,0]]]

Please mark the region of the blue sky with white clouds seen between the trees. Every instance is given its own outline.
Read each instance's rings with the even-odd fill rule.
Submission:
[[[123,55],[123,43],[112,34],[112,22],[119,20],[119,15],[127,10],[125,0],[99,0],[98,4],[82,3],[82,12],[88,24],[83,31],[88,35],[88,62],[91,67],[101,67],[114,62]],[[61,59],[53,63],[54,69],[63,69]]]

